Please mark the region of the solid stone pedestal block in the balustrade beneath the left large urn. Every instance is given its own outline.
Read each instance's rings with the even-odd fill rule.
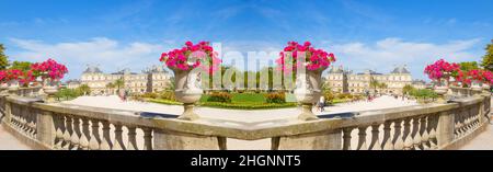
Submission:
[[[153,150],[219,150],[226,145],[226,139],[218,137],[167,130],[154,130],[153,139]]]

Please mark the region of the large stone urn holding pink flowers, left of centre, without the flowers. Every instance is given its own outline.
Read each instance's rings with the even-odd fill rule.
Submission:
[[[198,115],[194,113],[195,103],[200,100],[204,90],[202,89],[202,79],[199,72],[194,70],[172,69],[174,73],[174,96],[179,102],[183,103],[184,111],[177,118],[185,121],[198,119]]]

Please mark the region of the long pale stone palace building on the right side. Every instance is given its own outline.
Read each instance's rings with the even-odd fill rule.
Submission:
[[[402,88],[412,84],[412,76],[405,66],[397,67],[390,73],[378,73],[372,70],[366,70],[360,73],[353,73],[351,70],[343,69],[342,66],[331,67],[329,73],[324,77],[328,84],[334,92],[345,93],[366,93],[374,92],[370,88],[371,80],[387,84],[385,89],[377,89],[379,93],[402,93]]]

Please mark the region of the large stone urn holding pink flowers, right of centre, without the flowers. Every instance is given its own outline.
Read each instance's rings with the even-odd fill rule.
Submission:
[[[302,111],[298,116],[298,119],[318,119],[317,115],[312,112],[312,107],[322,95],[322,71],[325,69],[326,68],[319,70],[307,70],[305,73],[297,73],[294,94],[297,102],[301,104]]]

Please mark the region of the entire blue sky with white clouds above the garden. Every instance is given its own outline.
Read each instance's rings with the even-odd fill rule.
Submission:
[[[493,38],[491,0],[0,0],[0,43],[11,60],[48,57],[78,78],[159,65],[185,41],[225,50],[280,50],[310,41],[355,71],[408,65],[414,78],[438,58],[480,60]]]

